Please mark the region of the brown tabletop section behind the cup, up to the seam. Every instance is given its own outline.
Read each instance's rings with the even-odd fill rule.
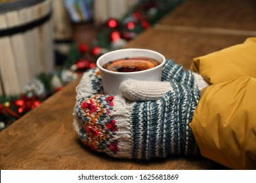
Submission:
[[[137,39],[129,42],[126,48],[146,48],[156,50],[165,58],[190,68],[192,59],[216,52],[245,41],[245,35],[226,35],[200,31],[177,31],[169,27],[156,25],[145,31]]]

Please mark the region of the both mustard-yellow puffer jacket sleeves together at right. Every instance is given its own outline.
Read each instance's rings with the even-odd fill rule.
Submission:
[[[231,169],[256,169],[256,38],[195,58],[191,69],[211,84],[190,123],[200,152]]]

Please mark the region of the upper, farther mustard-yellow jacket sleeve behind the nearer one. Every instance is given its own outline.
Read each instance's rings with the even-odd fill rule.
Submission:
[[[241,76],[256,78],[256,37],[194,58],[190,69],[199,73],[209,84],[234,80]]]

